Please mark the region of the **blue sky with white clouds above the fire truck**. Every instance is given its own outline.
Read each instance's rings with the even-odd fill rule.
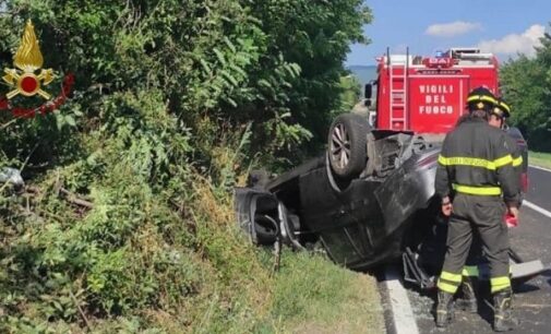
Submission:
[[[534,56],[550,32],[551,0],[367,0],[373,21],[369,45],[352,45],[346,65],[374,64],[386,52],[431,56],[451,47],[478,47],[501,62]]]

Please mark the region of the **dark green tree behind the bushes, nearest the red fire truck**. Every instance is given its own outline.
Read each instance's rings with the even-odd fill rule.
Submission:
[[[267,33],[268,52],[301,69],[287,107],[291,120],[312,132],[310,148],[318,151],[342,108],[340,77],[347,74],[343,62],[349,45],[369,41],[361,27],[371,22],[371,11],[358,0],[268,0],[251,7]]]

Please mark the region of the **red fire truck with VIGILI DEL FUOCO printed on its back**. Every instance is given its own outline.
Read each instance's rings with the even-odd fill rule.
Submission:
[[[409,53],[409,52],[408,52]],[[381,130],[445,134],[466,111],[467,94],[486,86],[499,95],[498,59],[476,48],[451,48],[434,57],[391,55],[378,58],[378,80],[366,86],[373,127]]]

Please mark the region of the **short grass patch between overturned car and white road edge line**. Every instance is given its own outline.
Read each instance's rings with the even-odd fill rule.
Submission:
[[[272,330],[284,333],[382,333],[375,279],[321,255],[287,252],[274,286]],[[272,331],[268,331],[272,332]]]

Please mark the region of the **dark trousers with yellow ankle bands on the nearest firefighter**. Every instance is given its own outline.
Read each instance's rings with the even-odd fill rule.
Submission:
[[[447,227],[446,255],[438,286],[455,294],[469,254],[474,232],[482,241],[490,264],[492,294],[511,287],[508,269],[508,230],[504,223],[505,204],[500,196],[458,193]]]

